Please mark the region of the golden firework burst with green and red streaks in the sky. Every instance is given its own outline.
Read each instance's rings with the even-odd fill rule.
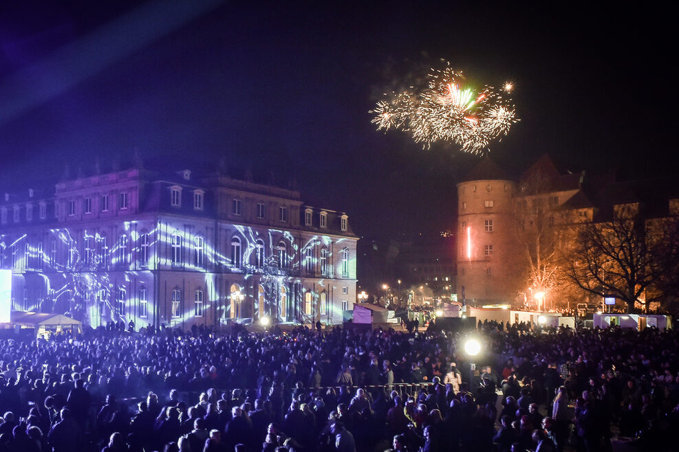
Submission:
[[[489,85],[481,91],[461,87],[462,73],[450,65],[432,69],[427,78],[429,86],[420,93],[392,93],[391,100],[377,102],[369,113],[375,115],[371,122],[378,131],[394,128],[410,133],[423,148],[446,141],[478,154],[519,121],[510,98]],[[504,84],[505,93],[512,89],[510,82]]]

